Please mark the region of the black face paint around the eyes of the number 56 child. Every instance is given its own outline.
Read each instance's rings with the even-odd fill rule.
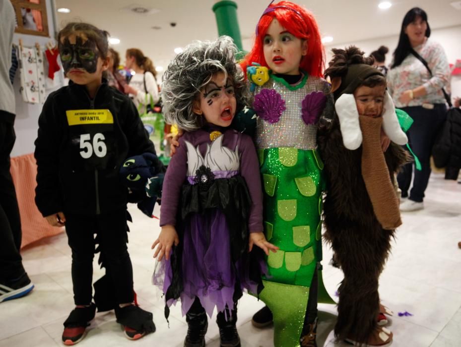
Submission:
[[[66,73],[72,68],[84,69],[89,73],[96,71],[99,54],[96,43],[92,40],[83,42],[82,38],[77,36],[75,44],[72,45],[66,38],[64,43],[59,43],[59,54]]]

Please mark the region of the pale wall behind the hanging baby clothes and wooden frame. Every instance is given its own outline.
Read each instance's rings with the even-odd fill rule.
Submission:
[[[22,39],[23,46],[33,47],[35,43],[39,43],[42,48],[47,42],[55,36],[55,23],[56,23],[56,12],[54,8],[54,0],[46,0],[47,5],[47,18],[48,18],[48,32],[50,37],[25,35],[14,33],[13,43],[18,45],[19,39]],[[44,57],[46,60],[46,58]],[[48,69],[45,70],[45,75],[48,74]],[[51,82],[51,79],[48,81]],[[54,87],[47,89],[47,94],[56,90],[64,83],[63,71],[55,73]],[[34,152],[34,141],[37,137],[38,129],[38,116],[42,111],[42,104],[29,104],[22,101],[21,93],[19,88],[21,87],[19,79],[19,70],[16,71],[14,76],[14,97],[16,99],[16,120],[14,122],[14,130],[16,132],[16,142],[11,152],[11,157],[33,153]],[[51,87],[51,86],[50,86]]]

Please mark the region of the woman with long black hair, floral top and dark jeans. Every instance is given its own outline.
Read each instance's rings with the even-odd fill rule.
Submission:
[[[431,149],[437,130],[446,118],[442,88],[449,84],[450,68],[444,49],[430,40],[430,35],[426,12],[419,7],[410,9],[403,18],[394,60],[387,75],[395,107],[404,110],[414,120],[407,133],[408,140],[422,166],[421,171],[415,170],[411,191],[412,164],[405,165],[398,175],[403,200],[401,211],[424,208],[424,191],[431,174]]]

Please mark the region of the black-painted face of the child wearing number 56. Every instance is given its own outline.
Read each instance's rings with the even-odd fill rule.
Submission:
[[[96,43],[83,33],[61,38],[59,54],[66,76],[77,84],[101,79],[100,74],[107,68],[107,63],[99,57]]]

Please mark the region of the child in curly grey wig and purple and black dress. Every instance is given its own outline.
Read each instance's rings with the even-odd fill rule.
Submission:
[[[252,139],[228,127],[246,100],[235,52],[229,37],[191,44],[170,63],[162,87],[167,121],[187,132],[165,174],[153,280],[165,293],[167,318],[181,298],[189,347],[205,345],[206,313],[215,307],[221,346],[240,346],[237,301],[243,289],[262,289],[263,256],[251,250],[277,249],[263,234]]]

